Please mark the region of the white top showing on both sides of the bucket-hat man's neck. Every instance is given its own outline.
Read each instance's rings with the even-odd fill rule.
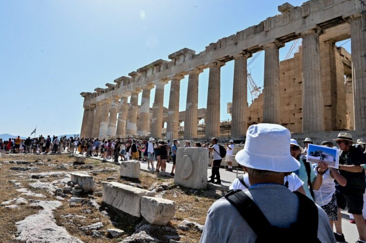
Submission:
[[[250,187],[248,173],[245,173],[243,175],[243,181],[245,185],[239,180],[239,178],[236,178],[233,184],[231,184],[231,186],[229,187],[229,189],[245,190]],[[284,186],[287,187],[290,191],[298,191],[306,195],[303,184],[304,182],[300,180],[300,178],[295,173],[291,173],[284,178]]]

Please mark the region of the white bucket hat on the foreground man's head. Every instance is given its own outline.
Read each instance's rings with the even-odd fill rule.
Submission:
[[[300,168],[300,163],[291,156],[288,145],[291,133],[277,124],[255,124],[246,131],[244,149],[235,160],[242,166],[276,172],[290,172]],[[297,143],[297,142],[296,142]],[[266,151],[264,145],[269,145]]]

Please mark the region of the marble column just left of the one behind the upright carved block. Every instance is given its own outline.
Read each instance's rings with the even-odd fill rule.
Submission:
[[[168,120],[166,123],[166,139],[178,139],[179,127],[179,92],[181,87],[181,79],[183,75],[174,75],[171,78],[169,106],[168,106]]]

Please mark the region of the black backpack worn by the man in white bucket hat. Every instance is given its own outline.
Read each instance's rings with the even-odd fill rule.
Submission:
[[[293,192],[299,198],[297,222],[289,228],[271,225],[261,209],[242,190],[230,190],[224,196],[257,235],[255,243],[282,242],[320,243],[318,239],[318,208],[314,202],[300,192]],[[306,233],[304,230],[306,229]]]

